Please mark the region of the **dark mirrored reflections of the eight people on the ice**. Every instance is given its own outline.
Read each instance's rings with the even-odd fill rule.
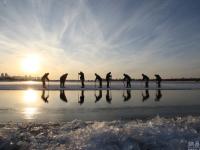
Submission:
[[[42,91],[41,98],[43,99],[43,101],[45,103],[48,103],[49,92],[46,95],[45,91],[46,90]],[[98,90],[98,94],[95,91],[94,97],[95,97],[95,103],[97,103],[98,101],[100,101],[102,99],[102,97],[103,97],[102,90]],[[111,101],[112,101],[112,91],[106,90],[106,96],[105,96],[105,98],[106,98],[106,101],[108,103],[111,103]],[[130,100],[132,98],[131,90],[126,90],[126,93],[123,92],[122,98],[123,98],[124,102]],[[142,101],[144,102],[144,101],[148,100],[149,98],[150,98],[150,96],[149,96],[149,90],[145,90],[145,92],[142,93]],[[155,101],[160,101],[161,98],[162,98],[162,93],[161,93],[161,90],[158,89],[156,91],[156,95],[155,95],[155,99],[154,100]],[[68,102],[64,90],[60,90],[60,99],[62,101],[64,101],[64,102]],[[85,100],[85,94],[84,94],[84,90],[82,90],[80,96],[78,96],[78,103],[81,105],[81,104],[84,103],[84,100]]]

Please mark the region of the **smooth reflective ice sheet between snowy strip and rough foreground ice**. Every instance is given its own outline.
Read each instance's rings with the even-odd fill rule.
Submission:
[[[148,97],[147,95],[148,92]],[[96,99],[101,94],[100,99]],[[112,121],[173,116],[200,116],[199,90],[132,91],[62,91],[0,90],[0,122]],[[84,96],[82,96],[82,94]],[[159,96],[160,94],[160,96]],[[130,99],[124,96],[130,95]],[[80,103],[81,97],[84,100]],[[111,97],[111,99],[107,99]],[[158,99],[159,97],[159,99]]]

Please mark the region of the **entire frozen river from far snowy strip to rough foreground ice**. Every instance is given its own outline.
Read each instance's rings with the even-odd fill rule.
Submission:
[[[94,90],[87,83],[0,83],[0,149],[195,148],[200,141],[198,82],[142,82],[133,89],[112,83]]]

